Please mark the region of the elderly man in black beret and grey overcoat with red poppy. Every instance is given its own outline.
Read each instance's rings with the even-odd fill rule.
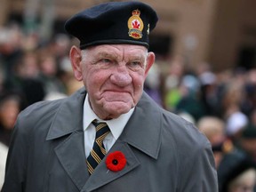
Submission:
[[[4,192],[216,192],[211,145],[143,92],[156,12],[137,1],[99,4],[67,21],[84,88],[19,116]]]

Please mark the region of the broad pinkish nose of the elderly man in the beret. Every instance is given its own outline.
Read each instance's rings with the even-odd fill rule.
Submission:
[[[126,86],[132,83],[132,76],[130,76],[128,68],[125,66],[118,66],[114,69],[110,80],[113,84],[118,86]]]

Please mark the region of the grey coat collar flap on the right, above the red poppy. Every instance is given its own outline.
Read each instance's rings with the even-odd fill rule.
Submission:
[[[163,124],[160,109],[144,92],[120,140],[156,159],[160,150]]]

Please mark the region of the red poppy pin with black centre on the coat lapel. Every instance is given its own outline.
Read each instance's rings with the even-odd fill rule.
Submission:
[[[118,172],[124,169],[126,164],[126,158],[121,151],[115,151],[110,153],[106,159],[106,165],[108,170],[112,172]]]

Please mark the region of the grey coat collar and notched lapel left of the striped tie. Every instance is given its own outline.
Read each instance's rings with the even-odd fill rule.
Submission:
[[[83,106],[85,91],[82,89],[66,99],[60,106],[46,140],[66,136],[54,148],[60,164],[81,190],[89,177],[84,152]]]

